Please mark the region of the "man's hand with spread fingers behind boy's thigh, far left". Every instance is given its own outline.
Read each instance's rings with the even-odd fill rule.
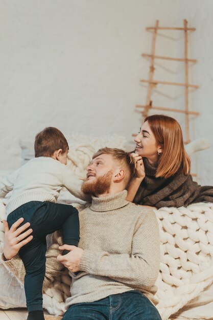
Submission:
[[[18,219],[15,223],[13,223],[13,225],[9,230],[7,221],[3,220],[3,224],[5,228],[5,242],[4,242],[3,253],[7,260],[10,260],[15,255],[17,255],[17,253],[19,252],[19,249],[33,239],[33,236],[29,236],[33,231],[32,229],[29,229],[26,232],[22,233],[27,228],[29,228],[30,226],[29,222],[25,223],[24,225],[18,228],[18,226],[22,222],[23,222],[23,218]],[[27,236],[29,237],[25,239]]]

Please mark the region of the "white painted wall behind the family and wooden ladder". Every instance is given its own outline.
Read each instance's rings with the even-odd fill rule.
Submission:
[[[200,88],[191,94],[190,108],[202,114],[191,118],[191,138],[213,142],[212,9],[211,0],[0,0],[0,169],[17,168],[18,141],[50,125],[66,135],[122,134],[130,144],[141,123],[134,105],[147,95],[139,79],[148,77],[149,60],[140,54],[151,51],[146,27],[156,19],[161,26],[182,26],[187,18],[197,28],[189,45],[199,63],[190,73]],[[180,33],[160,34],[157,54],[183,54]],[[183,65],[159,60],[160,78],[183,81]],[[183,107],[183,90],[159,86],[153,101]],[[171,116],[183,124],[183,117]],[[212,149],[196,158],[201,183],[212,184]]]

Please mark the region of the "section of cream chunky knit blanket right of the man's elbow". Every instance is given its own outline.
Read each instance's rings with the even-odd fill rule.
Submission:
[[[161,244],[157,309],[164,320],[213,282],[213,203],[155,213]]]

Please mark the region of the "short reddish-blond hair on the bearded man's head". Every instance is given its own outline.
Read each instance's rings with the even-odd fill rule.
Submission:
[[[97,158],[101,154],[112,155],[117,164],[121,165],[125,169],[126,175],[124,181],[126,184],[125,188],[127,188],[135,172],[134,161],[129,152],[126,152],[122,149],[105,147],[99,149],[96,153],[94,153],[92,159]]]

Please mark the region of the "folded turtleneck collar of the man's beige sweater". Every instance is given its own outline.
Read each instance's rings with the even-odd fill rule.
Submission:
[[[92,203],[90,209],[92,211],[100,212],[116,210],[125,207],[125,205],[129,203],[129,201],[126,200],[126,197],[126,190],[106,197],[97,198],[92,196]]]

